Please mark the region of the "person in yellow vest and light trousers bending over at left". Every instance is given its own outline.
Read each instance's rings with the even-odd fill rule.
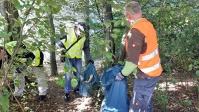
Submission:
[[[0,53],[3,55],[7,55],[8,59],[11,59],[16,45],[17,45],[17,41],[8,42],[5,44],[5,48],[4,48],[5,52],[1,50]],[[48,86],[47,86],[47,81],[46,81],[46,76],[45,76],[46,74],[43,72],[44,71],[43,60],[44,60],[44,55],[39,48],[33,48],[33,46],[31,46],[30,44],[25,45],[24,43],[22,43],[14,59],[14,64],[17,67],[13,73],[15,77],[14,81],[15,82],[19,81],[19,85],[15,86],[15,90],[13,93],[14,96],[21,97],[23,95],[23,91],[25,88],[25,74],[24,73],[26,72],[27,66],[30,66],[33,70],[33,73],[36,75],[37,82],[38,82],[39,95],[37,95],[36,100],[41,101],[46,98]]]

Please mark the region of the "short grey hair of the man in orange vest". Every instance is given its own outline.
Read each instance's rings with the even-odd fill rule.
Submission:
[[[125,6],[125,12],[128,12],[131,15],[142,13],[140,4],[136,1],[129,2]]]

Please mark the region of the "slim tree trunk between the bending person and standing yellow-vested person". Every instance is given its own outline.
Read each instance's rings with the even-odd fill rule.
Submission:
[[[51,25],[51,36],[53,37],[55,35],[55,26],[53,23],[53,17],[52,17],[52,11],[49,15],[49,21],[50,21],[50,25]],[[55,41],[51,40],[51,46],[53,48],[52,51],[50,51],[50,67],[51,67],[51,75],[56,76],[57,73],[57,62],[56,62],[56,55],[55,55]]]

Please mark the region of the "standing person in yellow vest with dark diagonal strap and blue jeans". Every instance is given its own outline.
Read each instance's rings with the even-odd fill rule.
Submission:
[[[90,55],[89,40],[85,37],[85,30],[85,23],[78,23],[75,26],[67,27],[67,34],[62,35],[62,37],[65,38],[64,43],[62,43],[60,40],[56,42],[59,47],[68,49],[73,43],[80,39],[66,52],[65,67],[71,68],[71,70],[65,74],[65,101],[70,100],[69,94],[71,90],[74,90],[77,93],[79,92],[82,71],[82,51],[84,51],[87,60],[91,63],[94,63]],[[76,71],[73,71],[72,67],[75,68]],[[74,88],[71,87],[72,74],[78,78],[78,84]]]

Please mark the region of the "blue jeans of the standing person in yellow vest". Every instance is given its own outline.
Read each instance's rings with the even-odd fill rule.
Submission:
[[[65,94],[69,94],[72,89],[77,90],[80,87],[80,75],[82,71],[82,59],[81,58],[69,58],[66,59],[66,68],[70,69],[69,72],[65,74],[66,85],[64,87]],[[72,67],[76,69],[76,72],[72,71]],[[71,87],[71,77],[75,75],[78,78],[78,85],[75,88]]]

